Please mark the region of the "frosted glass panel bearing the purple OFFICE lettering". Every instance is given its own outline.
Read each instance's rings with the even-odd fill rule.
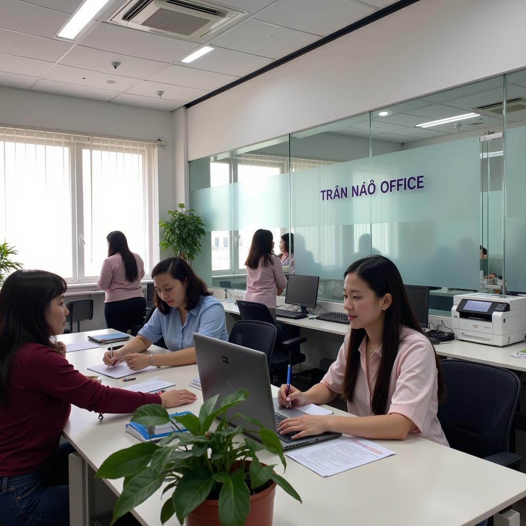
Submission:
[[[383,254],[411,284],[478,289],[479,154],[475,137],[291,174],[296,272],[341,279],[352,261]],[[418,176],[423,188],[408,189]],[[382,193],[404,178],[405,190]]]

